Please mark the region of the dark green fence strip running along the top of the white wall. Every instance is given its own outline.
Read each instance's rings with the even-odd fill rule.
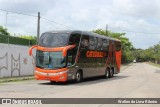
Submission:
[[[29,40],[29,39],[24,39],[20,37],[0,35],[0,43],[30,46],[30,45],[35,45],[36,40],[34,39]]]

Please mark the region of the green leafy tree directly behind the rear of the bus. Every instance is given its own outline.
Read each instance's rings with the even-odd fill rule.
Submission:
[[[115,33],[111,31],[105,31],[102,29],[93,30],[94,33],[98,33],[100,35],[105,35],[108,37],[116,38],[121,41],[122,45],[122,63],[128,63],[133,61],[132,50],[134,49],[132,43],[129,41],[127,37],[125,37],[125,33]]]

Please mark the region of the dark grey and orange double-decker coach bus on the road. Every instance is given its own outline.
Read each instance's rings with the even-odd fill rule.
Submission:
[[[49,31],[42,33],[36,49],[35,79],[65,82],[120,72],[121,42],[87,31]]]

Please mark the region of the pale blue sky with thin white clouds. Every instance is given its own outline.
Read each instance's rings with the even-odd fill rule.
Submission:
[[[41,33],[91,31],[107,24],[110,31],[126,33],[135,48],[160,42],[160,0],[0,0],[0,9],[34,16],[40,12]],[[36,35],[37,17],[0,10],[0,26],[13,35]]]

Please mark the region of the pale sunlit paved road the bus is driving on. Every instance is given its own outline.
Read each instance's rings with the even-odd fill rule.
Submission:
[[[14,98],[160,98],[160,68],[134,63],[122,68],[113,78],[93,78],[82,83],[50,83],[28,80],[0,84],[0,97]],[[1,105],[3,107],[5,105]],[[25,107],[26,105],[23,105]],[[38,105],[39,106],[39,105]],[[53,105],[48,105],[53,107]],[[55,105],[84,107],[84,105]],[[85,105],[86,106],[86,105]],[[87,105],[106,107],[108,105]],[[109,105],[119,106],[119,105]],[[131,106],[131,105],[120,105]],[[136,105],[159,106],[159,105]],[[17,105],[15,105],[17,107]]]

